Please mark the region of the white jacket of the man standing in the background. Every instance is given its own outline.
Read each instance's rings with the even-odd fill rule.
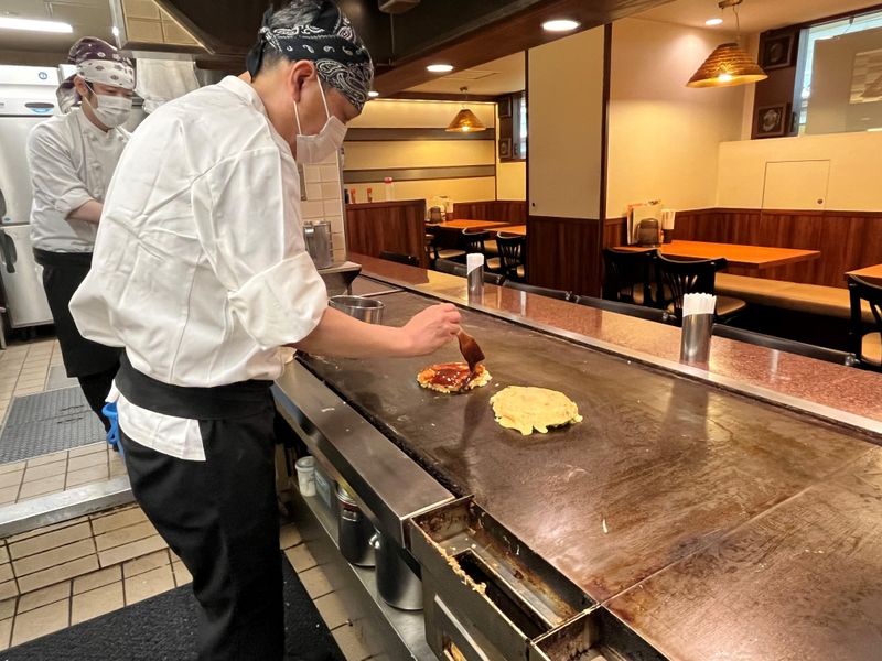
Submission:
[[[51,252],[92,252],[98,227],[67,214],[103,202],[129,140],[122,129],[104,132],[76,108],[36,124],[28,137],[31,170],[31,245]]]

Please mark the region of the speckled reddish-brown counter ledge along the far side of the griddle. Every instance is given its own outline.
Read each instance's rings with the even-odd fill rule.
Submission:
[[[363,273],[467,305],[465,279],[353,254]],[[573,334],[605,351],[775,401],[882,438],[882,375],[714,337],[707,369],[679,364],[680,329],[491,284],[480,308]]]

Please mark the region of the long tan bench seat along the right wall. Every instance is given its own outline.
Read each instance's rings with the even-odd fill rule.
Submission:
[[[718,273],[716,290],[718,295],[734,296],[755,305],[851,318],[851,301],[845,288]],[[873,314],[865,302],[862,316],[865,323],[873,323]]]

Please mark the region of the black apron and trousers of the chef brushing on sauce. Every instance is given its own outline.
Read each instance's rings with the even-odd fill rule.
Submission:
[[[182,388],[120,358],[116,384],[131,403],[197,420],[204,462],[146,447],[120,424],[141,509],[193,575],[200,661],[280,661],[284,603],[276,501],[271,381]]]

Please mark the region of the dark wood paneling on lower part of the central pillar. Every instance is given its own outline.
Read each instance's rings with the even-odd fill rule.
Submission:
[[[600,220],[529,216],[529,283],[599,296],[601,230]]]

